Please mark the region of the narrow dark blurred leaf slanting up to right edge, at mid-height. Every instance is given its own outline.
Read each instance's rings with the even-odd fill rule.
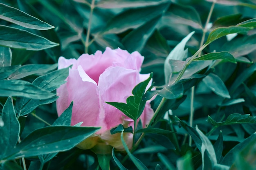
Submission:
[[[254,71],[256,71],[256,64],[252,64],[249,68],[245,69],[240,75],[236,77],[236,80],[232,84],[232,86],[229,88],[229,92],[232,94],[234,91],[242,84],[247,78],[249,78]]]

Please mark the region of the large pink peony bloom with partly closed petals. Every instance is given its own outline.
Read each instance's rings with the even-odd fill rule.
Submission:
[[[59,58],[58,69],[71,64],[73,66],[69,70],[67,82],[57,89],[58,116],[74,101],[71,125],[83,121],[81,126],[101,127],[94,136],[79,144],[79,148],[91,149],[103,144],[124,150],[120,134],[111,135],[110,130],[119,124],[133,126],[133,120],[105,102],[126,103],[127,97],[132,95],[132,89],[149,77],[149,74],[139,73],[143,60],[144,57],[137,51],[130,54],[109,47],[104,53],[97,51],[94,55],[83,54],[77,60]],[[147,102],[140,117],[144,127],[152,116],[153,110]],[[133,134],[125,133],[124,137],[131,148]]]

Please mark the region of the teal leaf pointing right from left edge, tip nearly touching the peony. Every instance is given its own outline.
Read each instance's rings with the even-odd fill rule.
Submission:
[[[0,80],[0,96],[23,96],[33,99],[49,99],[55,94],[23,80]]]

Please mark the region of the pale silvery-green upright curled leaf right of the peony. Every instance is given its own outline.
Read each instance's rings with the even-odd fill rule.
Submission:
[[[186,43],[189,41],[189,39],[191,38],[191,36],[194,33],[195,32],[191,32],[191,33],[189,33],[189,35],[187,35],[185,38],[183,38],[182,41],[179,44],[177,44],[177,46],[175,46],[175,48],[171,51],[171,53],[169,53],[169,55],[166,57],[165,62],[164,62],[164,77],[165,77],[166,85],[169,83],[171,73],[172,73],[172,69],[171,69],[169,60],[181,60],[182,61],[187,57],[188,51],[187,51],[187,49],[184,50],[184,48],[185,48]]]

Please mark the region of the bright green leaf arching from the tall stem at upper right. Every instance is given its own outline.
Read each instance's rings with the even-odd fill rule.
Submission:
[[[253,29],[253,27],[242,27],[242,26],[219,27],[219,28],[216,28],[213,31],[211,31],[205,44],[210,44],[214,40],[217,40],[218,38],[221,38],[228,34],[244,33],[251,29]]]

